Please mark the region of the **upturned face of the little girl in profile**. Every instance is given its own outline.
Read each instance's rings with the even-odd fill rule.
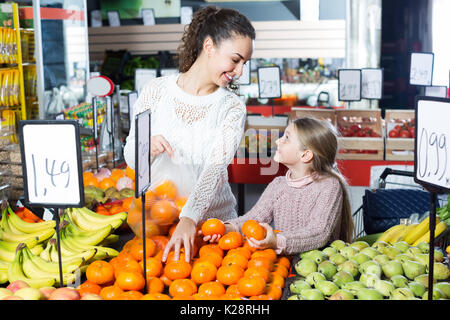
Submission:
[[[276,162],[294,165],[301,159],[303,152],[293,123],[287,126],[283,136],[277,139],[275,143],[277,144],[277,151],[274,156]]]

